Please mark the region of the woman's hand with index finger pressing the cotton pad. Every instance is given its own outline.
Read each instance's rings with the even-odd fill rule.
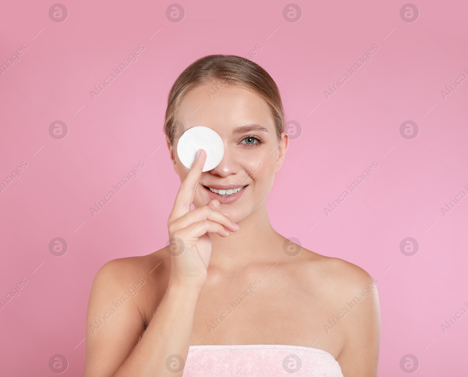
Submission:
[[[216,199],[190,210],[205,160],[206,151],[200,149],[168,218],[169,245],[166,250],[172,256],[170,284],[203,287],[211,256],[209,233],[227,237],[229,231],[239,230],[237,224],[219,212],[220,204]]]

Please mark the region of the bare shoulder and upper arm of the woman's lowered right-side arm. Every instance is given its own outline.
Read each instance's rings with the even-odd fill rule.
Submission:
[[[327,335],[343,334],[336,360],[344,376],[377,376],[379,281],[363,268],[339,258],[316,253],[307,255],[307,258],[334,290],[333,294],[326,295],[329,313],[323,331]]]

